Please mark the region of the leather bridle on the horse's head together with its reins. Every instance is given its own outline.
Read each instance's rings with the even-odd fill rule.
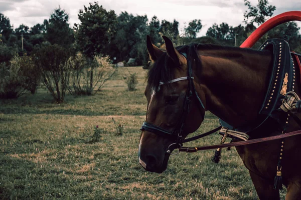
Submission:
[[[204,107],[204,104],[203,104],[203,102],[202,102],[200,96],[198,95],[198,93],[195,89],[195,86],[194,86],[194,82],[193,82],[194,77],[192,76],[191,62],[187,58],[186,53],[181,53],[181,54],[183,54],[185,56],[185,58],[187,59],[188,76],[175,78],[175,79],[169,80],[168,82],[160,82],[159,83],[160,85],[163,85],[163,84],[169,84],[169,83],[177,82],[177,81],[180,81],[180,80],[188,80],[189,81],[187,92],[186,92],[186,97],[185,97],[185,101],[184,101],[184,105],[183,105],[183,111],[182,111],[181,117],[180,117],[180,119],[177,123],[178,125],[175,127],[175,129],[173,131],[170,131],[170,130],[167,130],[167,129],[162,128],[160,126],[157,126],[155,124],[148,123],[148,122],[144,121],[142,123],[141,128],[140,128],[140,130],[146,130],[146,131],[149,131],[149,132],[153,132],[155,134],[158,134],[158,135],[161,135],[161,136],[164,136],[164,137],[175,138],[176,142],[169,145],[167,153],[169,153],[171,155],[176,155],[181,151],[196,152],[198,150],[208,150],[208,149],[225,148],[225,147],[231,147],[231,146],[240,146],[240,145],[259,143],[259,142],[263,142],[263,141],[270,141],[270,140],[274,140],[274,139],[280,139],[280,138],[284,138],[284,137],[290,137],[290,136],[301,134],[301,130],[296,130],[296,131],[287,132],[287,133],[283,132],[283,134],[280,134],[280,135],[262,137],[262,138],[247,140],[247,141],[237,141],[237,142],[216,144],[216,145],[209,145],[209,146],[195,146],[195,147],[185,147],[185,146],[183,146],[182,147],[183,143],[193,141],[193,140],[205,137],[207,135],[210,135],[210,134],[220,130],[222,128],[222,126],[216,127],[216,128],[214,128],[214,129],[212,129],[208,132],[202,133],[202,134],[197,135],[197,136],[193,136],[193,137],[190,137],[190,138],[187,138],[187,139],[182,138],[182,131],[183,131],[183,128],[185,126],[185,119],[186,119],[186,117],[189,113],[190,103],[191,103],[191,99],[192,99],[193,95],[196,96],[196,98],[200,102],[201,107],[203,109],[205,109],[205,107]],[[174,149],[179,149],[179,151],[177,151],[176,153],[172,153],[172,151]]]

